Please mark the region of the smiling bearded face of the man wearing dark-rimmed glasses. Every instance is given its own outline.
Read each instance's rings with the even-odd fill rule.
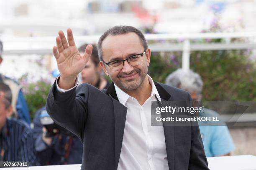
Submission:
[[[129,32],[123,35],[108,35],[102,42],[102,52],[103,60],[107,63],[113,60],[125,60],[131,55],[143,53],[144,48],[138,35]],[[131,66],[126,60],[123,69],[118,71],[114,71],[102,61],[100,66],[120,89],[135,90],[145,80],[149,62],[150,49],[147,49],[139,65]]]

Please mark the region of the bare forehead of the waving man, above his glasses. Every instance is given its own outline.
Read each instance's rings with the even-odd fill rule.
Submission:
[[[134,52],[142,52],[141,50],[143,50],[141,39],[134,32],[122,35],[108,35],[102,42],[103,59],[126,57],[126,55]]]

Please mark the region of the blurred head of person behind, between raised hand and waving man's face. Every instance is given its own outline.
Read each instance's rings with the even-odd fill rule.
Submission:
[[[84,53],[85,47],[88,44],[84,44],[78,48],[80,53]],[[100,90],[108,88],[110,83],[107,79],[102,75],[102,68],[100,67],[100,59],[98,57],[98,50],[95,45],[92,45],[92,54],[90,56],[89,61],[85,65],[82,72],[79,74],[81,79],[81,83],[88,83],[97,87]]]

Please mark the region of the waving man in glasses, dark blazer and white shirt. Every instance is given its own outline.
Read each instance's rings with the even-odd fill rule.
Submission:
[[[151,126],[151,101],[191,97],[147,75],[151,50],[140,30],[116,26],[100,37],[100,65],[113,81],[102,91],[76,89],[92,45],[80,55],[70,29],[67,40],[59,31],[56,44],[60,77],[46,109],[82,141],[82,170],[208,170],[198,126]]]

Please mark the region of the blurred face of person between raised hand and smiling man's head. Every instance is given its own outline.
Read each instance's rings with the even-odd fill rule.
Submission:
[[[99,80],[100,70],[100,66],[96,66],[94,62],[92,62],[92,60],[90,59],[81,72],[82,82],[88,83],[90,85],[95,85]]]

